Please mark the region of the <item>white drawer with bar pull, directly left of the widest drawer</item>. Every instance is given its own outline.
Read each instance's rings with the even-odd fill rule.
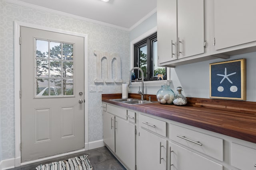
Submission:
[[[145,115],[140,115],[140,127],[166,137],[166,122]]]

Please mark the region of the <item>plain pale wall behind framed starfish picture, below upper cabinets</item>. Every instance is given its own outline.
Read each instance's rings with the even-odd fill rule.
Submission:
[[[233,55],[230,59],[214,59],[200,63],[186,64],[171,69],[171,79],[176,90],[182,86],[184,96],[194,98],[209,98],[210,96],[210,73],[209,64],[235,59],[246,59],[246,94],[247,100],[256,102],[256,52],[241,55]]]

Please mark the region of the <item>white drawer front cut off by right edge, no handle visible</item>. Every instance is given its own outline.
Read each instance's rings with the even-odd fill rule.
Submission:
[[[231,144],[231,165],[241,170],[256,170],[256,149]]]

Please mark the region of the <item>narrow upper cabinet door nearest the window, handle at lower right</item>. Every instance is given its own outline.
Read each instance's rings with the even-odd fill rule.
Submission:
[[[176,0],[157,0],[158,63],[177,59]]]

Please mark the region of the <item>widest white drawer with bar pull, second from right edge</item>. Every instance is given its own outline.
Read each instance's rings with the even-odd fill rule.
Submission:
[[[170,124],[170,139],[223,161],[223,139]]]

